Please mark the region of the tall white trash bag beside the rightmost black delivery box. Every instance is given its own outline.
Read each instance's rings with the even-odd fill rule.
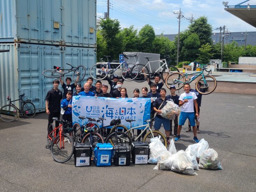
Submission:
[[[167,149],[158,137],[152,138],[150,141],[151,143],[149,143],[150,153],[148,163],[156,164],[158,161],[157,158],[162,152],[166,152]]]

